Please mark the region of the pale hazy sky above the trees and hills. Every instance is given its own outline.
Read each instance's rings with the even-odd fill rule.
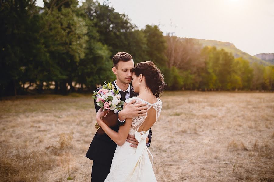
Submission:
[[[80,0],[81,1],[81,0]],[[103,3],[104,0],[99,0]],[[233,43],[250,55],[274,53],[274,0],[108,0],[142,29]],[[37,5],[43,6],[42,0]]]

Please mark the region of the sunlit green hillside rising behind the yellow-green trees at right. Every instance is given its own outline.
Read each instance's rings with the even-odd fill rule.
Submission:
[[[183,38],[183,39],[185,39],[185,38]],[[262,60],[256,56],[251,56],[248,53],[241,51],[240,49],[235,47],[234,44],[232,44],[230,42],[221,42],[221,41],[217,41],[217,40],[206,40],[206,39],[197,39],[197,40],[203,46],[215,46],[217,49],[223,48],[225,51],[231,52],[235,58],[242,57],[243,59],[248,60],[250,63],[258,62],[259,64],[262,64],[265,66],[270,65],[270,63],[265,60]]]

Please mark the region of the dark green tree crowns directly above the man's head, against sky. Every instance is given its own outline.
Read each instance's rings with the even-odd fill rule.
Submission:
[[[87,15],[99,33],[99,41],[107,45],[110,58],[117,52],[130,52],[137,62],[145,59],[146,39],[142,31],[130,22],[128,15],[115,12],[113,7],[87,1]]]

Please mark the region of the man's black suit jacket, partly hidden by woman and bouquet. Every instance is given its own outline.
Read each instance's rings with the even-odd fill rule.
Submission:
[[[112,85],[115,86],[114,81],[112,82]],[[103,86],[99,87],[96,89],[96,91],[99,91]],[[115,89],[117,90],[116,86]],[[129,97],[134,97],[137,96],[136,93],[133,92],[133,88],[130,86],[130,96]],[[94,106],[96,113],[100,109],[99,106],[96,105],[96,101],[94,100]],[[116,113],[117,118],[118,118],[118,112]],[[118,120],[119,121],[119,120]],[[123,122],[118,122],[116,126],[111,127],[112,130],[118,132],[119,126],[123,125]],[[149,142],[151,141],[151,136],[152,136],[152,131],[151,128],[149,130]],[[149,144],[150,146],[150,144]],[[147,147],[149,147],[147,146]],[[114,156],[115,150],[116,150],[117,144],[111,140],[107,134],[102,134],[97,130],[95,133],[91,143],[89,150],[86,153],[86,157],[89,158],[90,160],[97,161],[99,163],[103,164],[111,164],[112,158]]]

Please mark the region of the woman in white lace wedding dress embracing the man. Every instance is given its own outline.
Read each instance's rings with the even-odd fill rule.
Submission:
[[[105,133],[117,143],[117,148],[112,159],[110,173],[105,181],[156,181],[152,169],[153,157],[146,147],[146,137],[149,129],[158,120],[162,101],[158,98],[163,92],[165,83],[160,70],[151,61],[138,63],[132,74],[132,87],[139,96],[129,98],[124,107],[132,99],[135,103],[146,103],[149,107],[146,116],[127,118],[125,124],[116,132],[109,128],[101,119],[109,110],[102,108],[96,115],[97,123],[100,124]],[[139,144],[137,148],[130,147],[131,143],[126,141],[128,134],[135,135]],[[150,162],[148,152],[152,157]]]

